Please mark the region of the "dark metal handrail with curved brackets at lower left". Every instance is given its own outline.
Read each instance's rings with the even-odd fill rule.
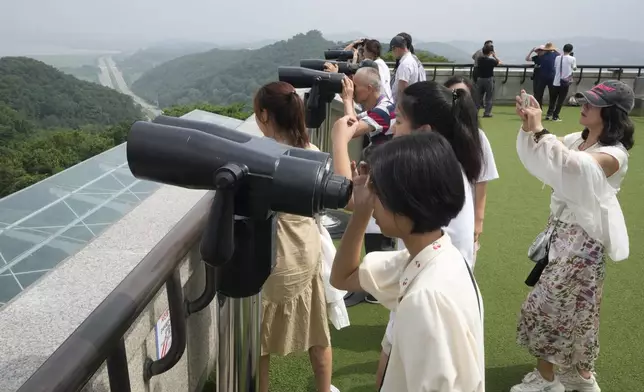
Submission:
[[[107,298],[20,387],[18,392],[76,392],[107,362],[110,390],[130,392],[125,334],[165,285],[172,343],[159,360],[147,358],[143,377],[149,381],[170,370],[186,349],[186,319],[215,297],[215,271],[204,267],[206,285],[201,296],[184,301],[179,267],[200,240],[214,192],[207,193],[168,232]]]

